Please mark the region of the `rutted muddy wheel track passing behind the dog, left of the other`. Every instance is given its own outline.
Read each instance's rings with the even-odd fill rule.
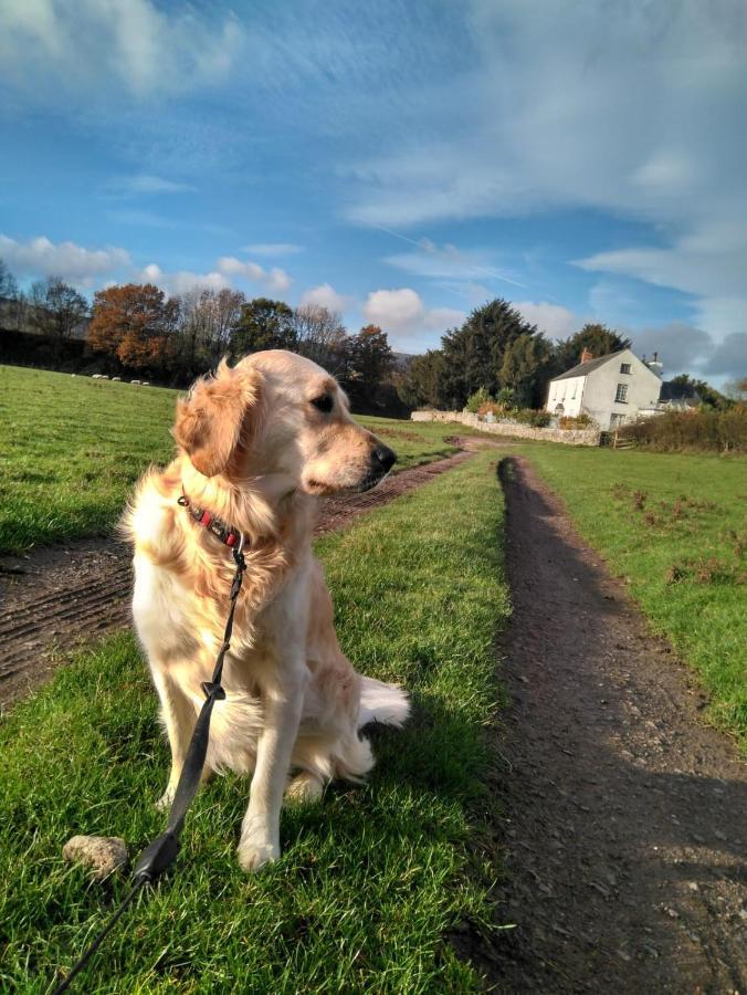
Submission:
[[[316,535],[344,527],[469,455],[403,470],[366,494],[327,499]],[[128,626],[131,585],[130,552],[113,538],[0,556],[0,709],[42,683],[72,649]]]

